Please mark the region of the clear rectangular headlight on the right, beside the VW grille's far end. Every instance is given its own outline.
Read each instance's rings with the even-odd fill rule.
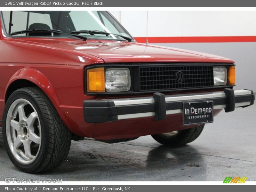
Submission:
[[[228,80],[226,67],[213,67],[214,85],[226,85]]]

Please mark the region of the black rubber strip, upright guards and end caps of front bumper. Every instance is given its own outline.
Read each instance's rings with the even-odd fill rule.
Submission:
[[[251,90],[249,90],[251,91]],[[136,105],[122,105],[115,106],[113,100],[85,100],[84,101],[84,121],[87,123],[103,123],[109,121],[117,121],[118,115],[137,114],[155,112],[155,120],[164,120],[167,110],[176,110],[183,108],[183,102],[187,101],[207,101],[213,100],[214,106],[226,105],[225,112],[231,112],[235,110],[236,103],[251,102],[250,105],[242,106],[248,107],[253,105],[255,96],[253,91],[248,95],[235,96],[234,90],[226,88],[224,90],[225,97],[199,99],[199,100],[183,100],[165,102],[165,96],[163,93],[156,92],[153,94],[155,100],[154,103],[136,104]]]

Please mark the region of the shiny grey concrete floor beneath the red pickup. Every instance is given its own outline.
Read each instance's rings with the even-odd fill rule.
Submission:
[[[222,111],[197,140],[178,148],[162,147],[151,136],[116,144],[72,141],[68,161],[36,175],[13,166],[0,138],[0,180],[223,181],[226,176],[244,176],[256,181],[255,114],[256,105]]]

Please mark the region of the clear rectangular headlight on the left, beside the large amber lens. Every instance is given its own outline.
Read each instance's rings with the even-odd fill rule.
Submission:
[[[129,91],[131,88],[130,70],[126,68],[109,68],[105,72],[107,92]]]

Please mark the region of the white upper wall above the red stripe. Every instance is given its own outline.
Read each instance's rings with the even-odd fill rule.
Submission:
[[[134,37],[145,37],[147,11],[111,11]],[[148,11],[148,36],[256,36],[255,11]]]

